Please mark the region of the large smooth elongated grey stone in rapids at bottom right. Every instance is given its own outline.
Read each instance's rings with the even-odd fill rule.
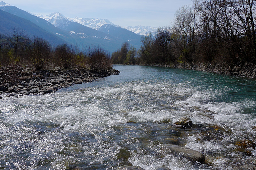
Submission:
[[[184,146],[165,144],[164,147],[172,154],[184,157],[189,161],[197,161],[203,163],[205,160],[204,155],[202,153]]]

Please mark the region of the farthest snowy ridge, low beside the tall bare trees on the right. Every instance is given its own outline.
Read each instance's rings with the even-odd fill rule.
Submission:
[[[157,30],[156,27],[152,27],[152,26],[121,26],[121,27],[140,35],[148,35],[149,33],[154,34]]]

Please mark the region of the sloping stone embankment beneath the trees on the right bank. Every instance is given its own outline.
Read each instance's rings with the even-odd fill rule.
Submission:
[[[172,63],[170,65],[152,64],[152,66],[172,67],[220,73],[239,77],[256,78],[256,65],[252,63]]]

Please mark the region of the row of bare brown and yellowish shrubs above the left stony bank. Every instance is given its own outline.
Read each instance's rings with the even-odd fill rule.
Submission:
[[[110,54],[101,46],[79,47],[68,43],[56,47],[34,36],[28,38],[20,28],[13,28],[12,34],[0,34],[0,66],[17,67],[26,65],[36,70],[61,66],[92,70],[112,67]]]

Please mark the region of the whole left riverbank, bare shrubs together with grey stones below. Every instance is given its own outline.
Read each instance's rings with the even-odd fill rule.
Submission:
[[[13,29],[9,37],[1,35],[0,40],[0,92],[15,97],[54,92],[119,73],[100,46],[82,51],[63,43],[53,49],[46,40],[28,39],[20,29]]]

